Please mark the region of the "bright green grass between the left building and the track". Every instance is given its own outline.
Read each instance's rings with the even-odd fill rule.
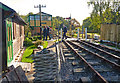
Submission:
[[[48,42],[44,41],[43,48],[47,48],[47,46],[48,46]],[[21,62],[33,63],[34,60],[32,60],[31,55],[35,48],[36,48],[35,45],[28,46],[24,51]]]

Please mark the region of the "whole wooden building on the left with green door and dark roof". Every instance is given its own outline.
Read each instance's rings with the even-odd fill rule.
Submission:
[[[2,68],[5,70],[23,48],[26,23],[15,10],[0,2],[0,35]]]

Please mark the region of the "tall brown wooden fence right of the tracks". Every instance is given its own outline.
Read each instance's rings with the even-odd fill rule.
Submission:
[[[113,42],[120,42],[120,25],[102,24],[100,39]]]

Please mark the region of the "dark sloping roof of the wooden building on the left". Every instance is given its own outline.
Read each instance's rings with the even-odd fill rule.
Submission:
[[[6,18],[12,18],[19,22],[20,24],[26,25],[25,21],[16,13],[16,11],[7,5],[0,2],[0,9],[2,9],[4,13],[4,19]]]

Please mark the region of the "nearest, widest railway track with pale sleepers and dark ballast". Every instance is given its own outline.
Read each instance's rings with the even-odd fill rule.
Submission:
[[[73,68],[73,75],[78,74],[81,80],[89,78],[90,82],[119,82],[120,66],[117,63],[80,46],[79,43],[63,42],[67,46],[63,48],[64,56],[68,57],[68,60],[73,59],[72,65],[77,63],[78,66]]]

